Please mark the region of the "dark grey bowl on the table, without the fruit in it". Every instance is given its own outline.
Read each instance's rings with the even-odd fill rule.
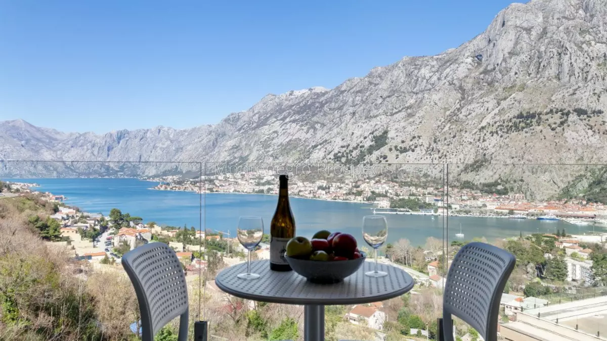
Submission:
[[[349,260],[333,260],[322,262],[302,258],[288,257],[287,262],[293,269],[313,283],[338,283],[353,274],[365,262],[367,254],[361,252],[362,257]]]

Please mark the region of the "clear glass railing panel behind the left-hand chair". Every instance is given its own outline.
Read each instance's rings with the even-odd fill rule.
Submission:
[[[185,251],[192,324],[201,174],[201,163],[0,161],[0,339],[137,337],[121,255],[157,241]]]

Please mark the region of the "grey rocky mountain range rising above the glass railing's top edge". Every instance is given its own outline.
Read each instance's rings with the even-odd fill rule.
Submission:
[[[0,158],[472,163],[454,168],[478,181],[507,173],[562,186],[568,172],[537,180],[487,164],[604,163],[606,110],[607,0],[532,0],[456,49],[405,57],[330,90],[267,95],[214,126],[95,135],[6,121]]]

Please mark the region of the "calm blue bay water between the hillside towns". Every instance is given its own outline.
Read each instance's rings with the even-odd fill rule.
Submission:
[[[86,212],[108,215],[110,209],[119,208],[123,213],[138,215],[144,221],[158,225],[194,226],[236,235],[240,215],[260,215],[264,228],[269,231],[270,220],[276,208],[277,197],[257,194],[206,194],[191,192],[154,191],[149,188],[157,183],[137,179],[19,179],[13,181],[35,182],[38,191],[65,195],[66,203],[78,206]],[[369,204],[339,201],[291,198],[291,208],[296,219],[297,235],[311,237],[321,229],[347,232],[362,240],[362,217],[372,214]],[[387,214],[388,242],[407,238],[413,245],[423,245],[427,237],[443,238],[446,222],[443,217],[424,215]],[[201,224],[202,219],[202,224]],[[531,219],[449,217],[449,241],[458,240],[461,231],[466,240],[485,237],[513,237],[523,232],[552,232],[563,228],[569,234],[592,232],[592,225],[575,226],[565,221],[539,221]],[[597,226],[597,231],[601,228]]]

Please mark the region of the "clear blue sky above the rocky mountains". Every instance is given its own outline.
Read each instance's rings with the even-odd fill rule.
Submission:
[[[512,1],[1,1],[0,121],[68,132],[219,122],[483,32]]]

